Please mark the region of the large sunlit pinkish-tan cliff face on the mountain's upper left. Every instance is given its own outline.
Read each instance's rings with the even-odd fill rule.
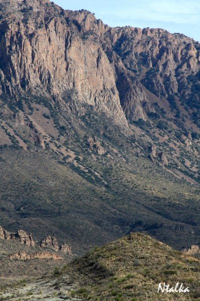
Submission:
[[[83,39],[67,12],[38,0],[4,1],[2,10],[10,14],[1,25],[2,94],[70,93],[126,122],[106,54],[95,39]]]

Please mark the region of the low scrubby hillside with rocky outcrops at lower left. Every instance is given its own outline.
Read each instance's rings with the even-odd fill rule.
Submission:
[[[59,246],[55,237],[35,241],[24,230],[10,233],[0,226],[1,287],[19,281],[24,284],[28,278],[63,267],[75,256],[68,245]]]

